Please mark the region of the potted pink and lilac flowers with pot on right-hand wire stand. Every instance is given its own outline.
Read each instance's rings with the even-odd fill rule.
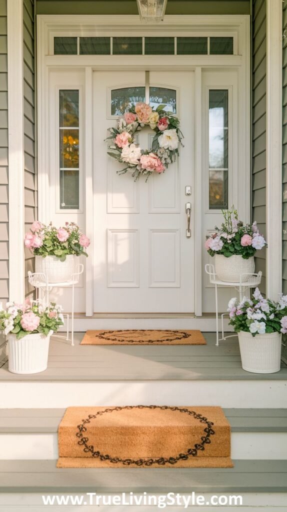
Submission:
[[[256,222],[244,224],[237,211],[222,210],[224,223],[205,242],[207,252],[215,256],[215,273],[220,281],[239,283],[248,281],[254,273],[254,254],[266,245]]]

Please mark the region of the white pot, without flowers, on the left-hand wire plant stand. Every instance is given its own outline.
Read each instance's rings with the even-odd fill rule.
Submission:
[[[75,272],[75,258],[75,254],[68,254],[65,261],[60,261],[56,256],[36,256],[35,271],[47,275],[49,283],[69,281]]]

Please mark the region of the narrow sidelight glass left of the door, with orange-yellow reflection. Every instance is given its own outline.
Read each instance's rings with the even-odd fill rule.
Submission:
[[[79,91],[59,91],[60,208],[79,209]]]

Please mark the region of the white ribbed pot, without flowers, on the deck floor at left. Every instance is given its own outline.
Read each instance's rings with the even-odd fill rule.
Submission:
[[[40,373],[47,369],[50,337],[40,333],[27,334],[17,339],[16,334],[8,334],[9,372]]]

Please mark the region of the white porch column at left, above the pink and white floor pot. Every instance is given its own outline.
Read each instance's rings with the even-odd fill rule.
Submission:
[[[25,297],[23,0],[7,2],[9,297]]]

